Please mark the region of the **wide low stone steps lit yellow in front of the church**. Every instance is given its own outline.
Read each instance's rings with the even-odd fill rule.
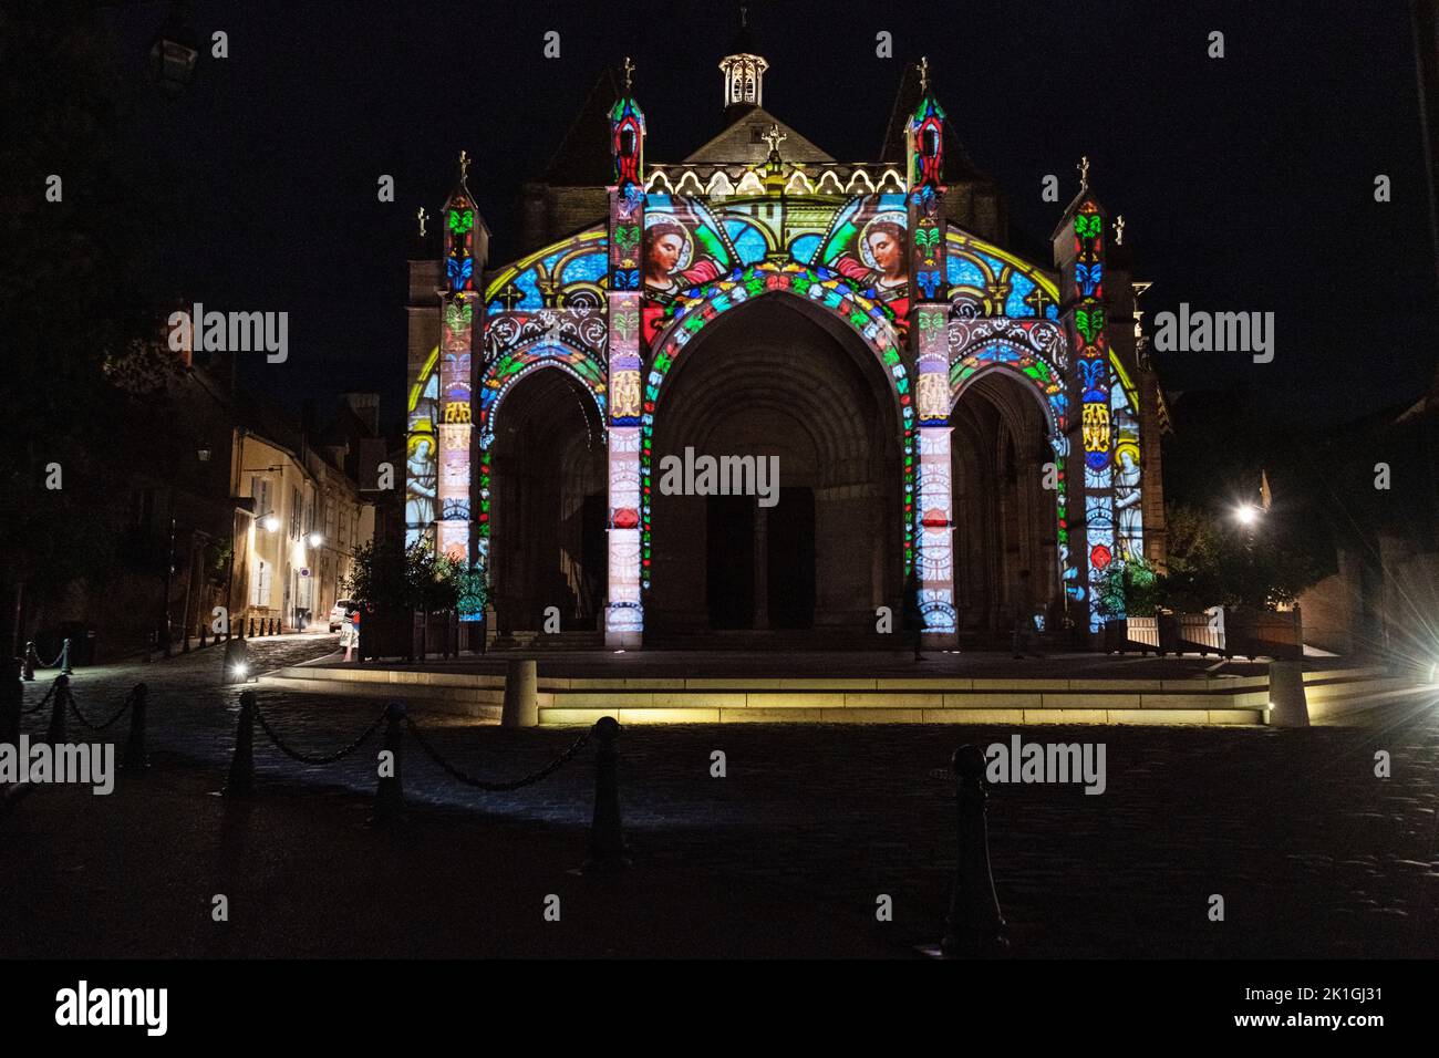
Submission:
[[[266,687],[394,698],[498,721],[504,654],[414,665],[344,664],[338,655],[260,677]],[[534,655],[528,655],[534,656]],[[1016,661],[1003,654],[734,655],[604,651],[540,654],[540,723],[623,724],[1266,724],[1263,662],[1094,654]],[[1377,665],[1305,662],[1315,723],[1429,689]]]

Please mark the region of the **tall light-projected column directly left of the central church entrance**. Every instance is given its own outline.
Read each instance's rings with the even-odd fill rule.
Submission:
[[[630,98],[630,60],[625,60],[625,96],[610,111],[614,186],[610,187],[609,289],[609,599],[604,645],[640,645],[645,606],[642,566],[649,540],[640,527],[640,233],[645,230],[645,115]]]

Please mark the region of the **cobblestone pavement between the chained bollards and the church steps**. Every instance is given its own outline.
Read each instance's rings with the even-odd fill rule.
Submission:
[[[255,641],[262,668],[330,649],[334,636]],[[223,774],[237,687],[213,648],[153,665],[78,671],[75,698],[105,717],[137,679],[151,688],[157,766]],[[50,674],[40,674],[42,679]],[[27,685],[27,704],[46,684]],[[338,749],[378,714],[376,700],[259,691],[275,728],[308,753]],[[576,731],[504,731],[417,714],[439,751],[489,779],[525,774]],[[1000,785],[989,802],[1000,904],[1016,950],[1040,956],[1439,956],[1439,705],[1379,710],[1364,727],[1301,731],[1199,727],[1025,727],[1026,741],[1107,747],[1107,789]],[[45,713],[26,718],[42,731]],[[122,725],[121,725],[122,727]],[[73,728],[72,728],[73,730]],[[954,867],[953,785],[964,741],[1010,728],[922,725],[682,725],[620,738],[636,858],[754,882],[787,898],[853,908],[863,928],[894,900],[896,947],[932,940]],[[79,737],[75,731],[72,737]],[[124,733],[112,736],[124,741]],[[259,786],[374,789],[370,743],[338,764],[302,766],[256,731]],[[711,753],[727,776],[711,777]],[[1392,777],[1374,776],[1376,751]],[[410,802],[505,818],[518,828],[589,826],[591,754],[514,793],[465,789],[404,757]],[[522,832],[522,831],[521,831]],[[1209,920],[1210,897],[1225,920]]]

